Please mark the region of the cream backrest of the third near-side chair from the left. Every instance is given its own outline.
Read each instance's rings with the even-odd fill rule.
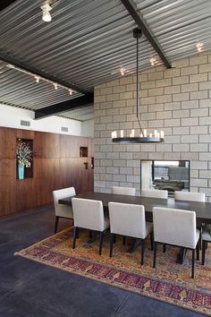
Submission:
[[[153,208],[156,242],[195,248],[197,244],[196,212],[171,208]]]

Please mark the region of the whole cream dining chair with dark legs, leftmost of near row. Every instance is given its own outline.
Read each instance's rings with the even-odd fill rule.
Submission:
[[[74,233],[72,249],[75,248],[79,228],[100,232],[99,255],[102,253],[103,238],[109,227],[109,219],[104,216],[102,201],[72,198]]]

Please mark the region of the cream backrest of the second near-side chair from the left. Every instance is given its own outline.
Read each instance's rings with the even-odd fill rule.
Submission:
[[[144,206],[108,202],[111,233],[122,236],[146,237]]]

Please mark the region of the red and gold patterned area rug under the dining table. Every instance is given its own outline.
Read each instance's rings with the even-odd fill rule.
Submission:
[[[81,230],[76,248],[72,250],[72,227],[18,253],[22,257],[92,278],[114,287],[175,304],[211,316],[211,249],[207,250],[206,265],[196,261],[195,278],[191,275],[191,253],[183,265],[175,262],[178,248],[158,247],[156,269],[152,268],[153,252],[146,248],[144,265],[139,264],[140,247],[127,252],[132,241],[122,244],[117,236],[114,256],[109,258],[109,234],[105,235],[103,253],[98,255],[99,240],[89,243],[89,232]]]

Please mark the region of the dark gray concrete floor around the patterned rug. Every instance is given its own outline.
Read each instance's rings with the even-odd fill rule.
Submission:
[[[62,219],[59,229],[68,224]],[[0,221],[1,317],[203,316],[13,255],[53,227],[52,208]]]

